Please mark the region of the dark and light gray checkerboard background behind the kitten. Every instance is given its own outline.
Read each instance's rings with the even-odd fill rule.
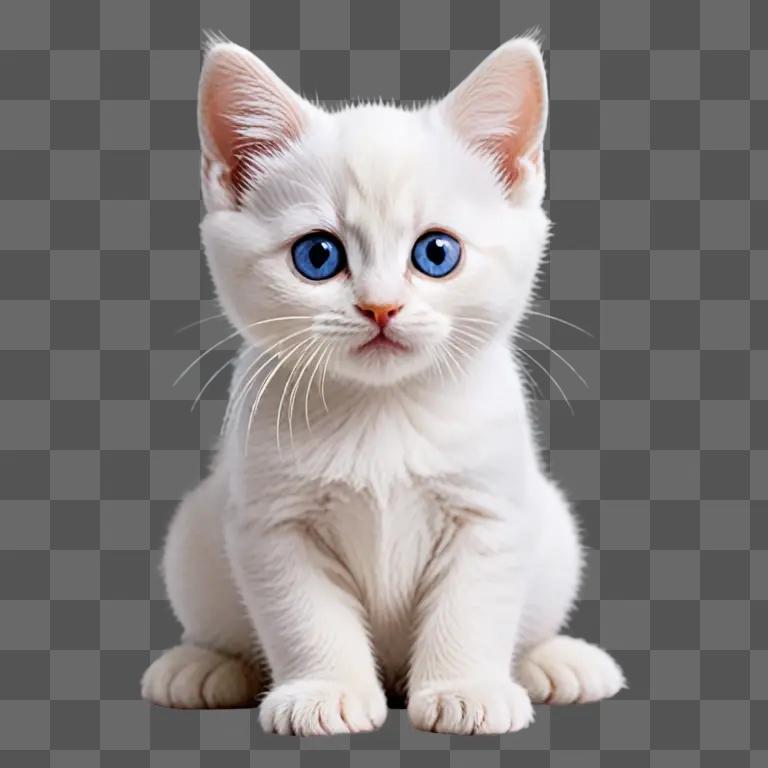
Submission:
[[[200,257],[201,29],[333,103],[444,93],[538,26],[555,221],[530,354],[590,545],[572,632],[629,690],[503,737],[267,737],[138,698],[179,634],[157,575],[205,471],[227,332]],[[0,764],[768,765],[768,3],[3,0]],[[221,379],[224,379],[222,376]]]

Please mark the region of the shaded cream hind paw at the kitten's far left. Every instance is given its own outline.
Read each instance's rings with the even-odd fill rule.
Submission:
[[[242,707],[258,693],[254,670],[239,659],[194,645],[177,645],[141,679],[147,701],[179,709]]]

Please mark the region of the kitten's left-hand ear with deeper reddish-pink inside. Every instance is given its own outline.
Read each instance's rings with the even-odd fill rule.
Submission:
[[[297,139],[313,109],[250,51],[214,43],[200,73],[197,110],[208,210],[236,208],[260,160]]]

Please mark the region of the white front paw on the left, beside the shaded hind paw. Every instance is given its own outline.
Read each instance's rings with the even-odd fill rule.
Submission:
[[[352,688],[332,680],[293,680],[278,685],[261,702],[259,720],[267,733],[330,736],[381,727],[387,700],[376,687]]]

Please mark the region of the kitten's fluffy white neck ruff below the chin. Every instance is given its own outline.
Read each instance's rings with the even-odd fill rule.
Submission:
[[[253,417],[252,399],[240,409],[227,440],[233,466],[258,456],[259,471],[267,476],[295,471],[299,477],[342,481],[386,495],[410,476],[474,466],[488,448],[489,435],[501,430],[511,436],[527,423],[520,377],[502,342],[489,345],[455,379],[438,372],[366,387],[329,373],[324,400],[317,382],[312,386],[306,414],[311,428],[302,388],[292,432],[288,376],[286,371],[275,377]],[[289,454],[275,451],[278,423],[281,451]],[[286,463],[289,455],[295,461]]]

